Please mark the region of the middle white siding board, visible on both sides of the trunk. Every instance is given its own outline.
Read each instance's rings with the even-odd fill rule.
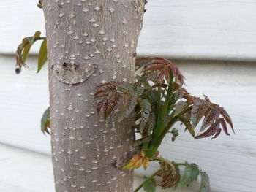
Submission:
[[[218,139],[192,139],[182,129],[176,142],[165,139],[162,155],[170,160],[199,164],[211,177],[214,192],[251,192],[256,184],[256,65],[243,62],[174,61],[187,78],[188,91],[206,94],[230,113],[236,135]],[[0,142],[50,154],[50,140],[39,128],[48,107],[47,70],[30,69],[17,75],[15,58],[0,57]],[[0,162],[1,164],[1,162]],[[149,172],[154,172],[152,164]],[[143,176],[143,169],[136,170]],[[39,173],[41,174],[41,173]],[[196,190],[191,190],[196,191]]]

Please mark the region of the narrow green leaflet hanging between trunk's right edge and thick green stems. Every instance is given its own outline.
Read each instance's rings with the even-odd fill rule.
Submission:
[[[141,107],[141,120],[140,120],[140,133],[143,132],[143,128],[146,126],[148,122],[149,115],[151,112],[151,104],[148,99],[143,99],[140,102]]]

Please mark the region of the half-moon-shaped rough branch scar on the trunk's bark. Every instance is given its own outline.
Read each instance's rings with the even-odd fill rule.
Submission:
[[[97,69],[97,64],[72,64],[73,62],[64,62],[64,64],[53,64],[51,69],[53,75],[60,82],[68,85],[75,85],[86,81]]]

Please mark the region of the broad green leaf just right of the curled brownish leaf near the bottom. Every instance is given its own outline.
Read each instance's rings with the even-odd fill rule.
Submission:
[[[185,166],[184,174],[181,176],[181,180],[178,183],[178,188],[183,188],[189,185],[193,181],[197,180],[200,170],[196,164],[187,164]]]

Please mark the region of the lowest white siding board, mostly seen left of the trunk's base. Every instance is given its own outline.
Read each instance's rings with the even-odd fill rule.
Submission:
[[[1,144],[0,151],[1,192],[54,192],[53,170],[49,155]],[[135,176],[134,188],[142,182],[142,177]],[[189,188],[176,192],[194,191],[198,185],[199,183],[195,182]],[[161,191],[164,192],[161,189],[156,192]]]

